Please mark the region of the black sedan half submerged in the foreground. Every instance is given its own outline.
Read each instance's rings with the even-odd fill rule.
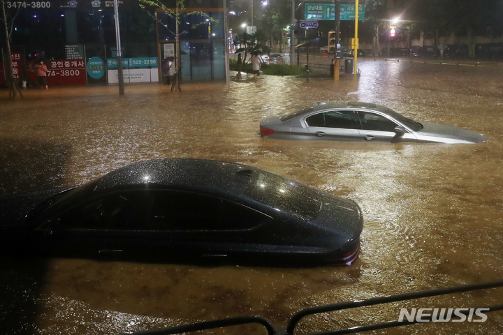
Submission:
[[[146,255],[350,265],[363,216],[352,200],[247,165],[143,161],[89,184],[0,201],[3,252]]]

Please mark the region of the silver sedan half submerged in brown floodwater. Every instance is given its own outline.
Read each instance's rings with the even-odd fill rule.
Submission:
[[[318,103],[260,123],[261,137],[289,140],[479,143],[486,137],[453,126],[419,123],[373,103]]]

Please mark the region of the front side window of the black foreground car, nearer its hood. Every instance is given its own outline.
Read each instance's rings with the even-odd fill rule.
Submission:
[[[138,210],[136,197],[136,193],[131,191],[99,195],[49,218],[38,228],[45,228],[50,222],[59,221],[68,229],[126,229]]]

